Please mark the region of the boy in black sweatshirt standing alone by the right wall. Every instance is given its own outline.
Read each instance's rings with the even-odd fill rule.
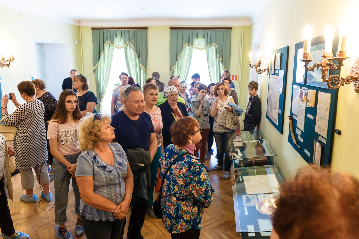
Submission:
[[[259,123],[261,122],[262,110],[261,110],[261,101],[257,95],[258,83],[251,81],[248,84],[249,100],[246,109],[246,114],[244,115],[244,129],[243,131],[254,130],[257,126],[259,130]]]

